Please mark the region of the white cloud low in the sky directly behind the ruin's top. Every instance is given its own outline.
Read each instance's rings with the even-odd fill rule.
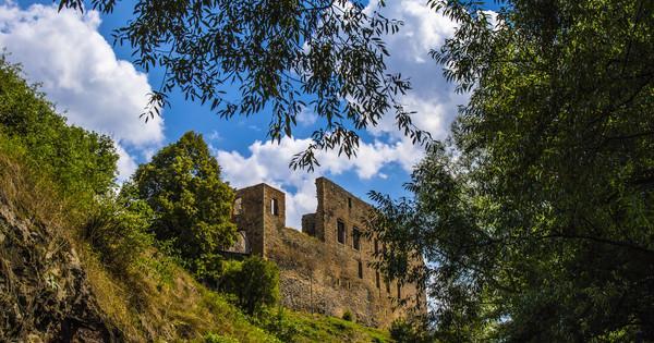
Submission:
[[[293,155],[306,149],[311,139],[294,139],[284,137],[279,145],[274,142],[254,142],[250,147],[250,156],[238,151],[214,150],[225,180],[238,188],[265,182],[287,193],[287,224],[300,229],[302,215],[314,212],[317,200],[314,180],[320,175],[338,175],[353,171],[362,179],[386,175],[379,170],[389,163],[399,163],[404,170],[410,170],[420,156],[408,142],[386,144],[374,142],[360,146],[360,158],[348,159],[338,152],[320,151],[317,159],[320,166],[314,172],[293,171],[289,162]],[[294,189],[294,192],[288,192]]]

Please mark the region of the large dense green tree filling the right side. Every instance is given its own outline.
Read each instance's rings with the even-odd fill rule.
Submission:
[[[431,3],[472,95],[414,197],[374,194],[383,269],[426,284],[444,341],[654,340],[654,3]]]

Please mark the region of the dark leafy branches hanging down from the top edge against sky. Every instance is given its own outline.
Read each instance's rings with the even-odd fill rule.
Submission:
[[[60,9],[83,3],[61,0]],[[109,13],[117,0],[90,3]],[[427,137],[397,99],[409,83],[386,71],[382,37],[401,23],[364,11],[360,1],[140,0],[134,16],[116,40],[130,45],[137,66],[166,71],[146,119],[159,114],[175,88],[222,118],[271,112],[268,135],[276,140],[292,135],[299,113],[313,110],[322,119],[314,142],[292,161],[310,169],[318,149],[355,155],[356,131],[390,111],[414,142]],[[237,96],[228,94],[233,86]]]

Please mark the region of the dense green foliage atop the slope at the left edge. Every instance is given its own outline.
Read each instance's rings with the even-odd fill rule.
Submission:
[[[47,173],[69,197],[106,194],[114,185],[118,155],[113,142],[66,124],[16,65],[0,56],[0,135],[28,162]],[[19,152],[19,151],[16,151]]]

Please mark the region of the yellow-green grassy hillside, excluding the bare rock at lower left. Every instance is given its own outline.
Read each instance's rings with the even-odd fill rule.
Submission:
[[[50,242],[40,242],[33,249],[48,249],[55,241],[69,245],[66,248],[80,259],[85,273],[84,282],[97,303],[102,320],[121,339],[133,342],[389,340],[385,332],[375,329],[288,309],[271,309],[264,316],[266,318],[246,317],[226,296],[198,284],[174,261],[167,260],[156,252],[144,254],[141,266],[132,266],[120,274],[111,272],[100,262],[98,253],[81,233],[86,221],[85,209],[76,208],[74,203],[59,197],[49,186],[47,177],[19,162],[14,151],[7,142],[0,144],[0,200],[4,212],[27,220],[29,225],[48,226],[52,232],[52,237],[47,237]],[[3,236],[7,234],[3,233]],[[21,280],[14,282],[20,283]],[[53,282],[65,283],[65,280]],[[34,330],[38,335],[37,328]]]

